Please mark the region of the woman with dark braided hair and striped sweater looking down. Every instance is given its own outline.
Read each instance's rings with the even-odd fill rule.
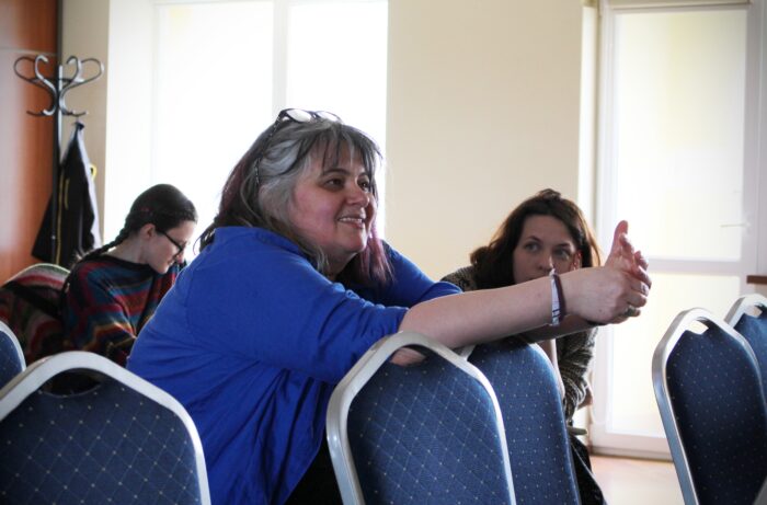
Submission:
[[[62,291],[65,345],[118,365],[175,283],[197,223],[194,204],[158,184],[130,206],[117,237],[72,267]]]

